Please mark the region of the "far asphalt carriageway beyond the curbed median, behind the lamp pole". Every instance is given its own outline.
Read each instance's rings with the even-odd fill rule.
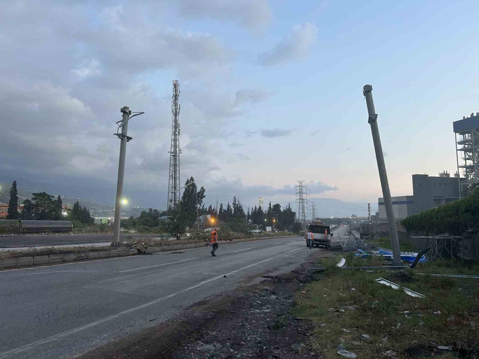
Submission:
[[[126,237],[140,236],[138,234],[120,235],[120,240]],[[141,235],[158,237],[158,235]],[[68,246],[72,244],[107,243],[113,240],[113,235],[26,235],[26,236],[0,236],[0,248],[17,247],[49,247]]]

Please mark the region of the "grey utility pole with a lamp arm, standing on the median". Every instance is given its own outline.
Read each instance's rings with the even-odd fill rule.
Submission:
[[[132,115],[130,108],[124,106],[120,109],[122,113],[122,119],[116,124],[118,125],[118,130],[121,127],[121,132],[118,132],[114,135],[118,136],[121,140],[120,142],[120,158],[118,160],[118,180],[116,182],[116,201],[115,201],[115,219],[113,223],[113,242],[110,245],[112,248],[121,247],[120,245],[120,220],[121,220],[121,205],[124,202],[123,197],[123,179],[125,178],[125,157],[126,157],[126,143],[130,142],[133,137],[127,135],[128,133],[128,120],[132,117],[141,115],[145,112],[134,112]]]

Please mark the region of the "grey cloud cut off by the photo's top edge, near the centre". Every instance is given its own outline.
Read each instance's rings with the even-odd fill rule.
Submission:
[[[184,17],[232,20],[249,29],[264,28],[273,17],[268,0],[179,0],[175,3]]]

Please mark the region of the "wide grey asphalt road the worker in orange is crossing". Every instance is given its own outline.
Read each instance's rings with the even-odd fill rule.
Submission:
[[[75,358],[323,249],[295,237],[220,246],[216,258],[210,250],[1,271],[0,358]]]

